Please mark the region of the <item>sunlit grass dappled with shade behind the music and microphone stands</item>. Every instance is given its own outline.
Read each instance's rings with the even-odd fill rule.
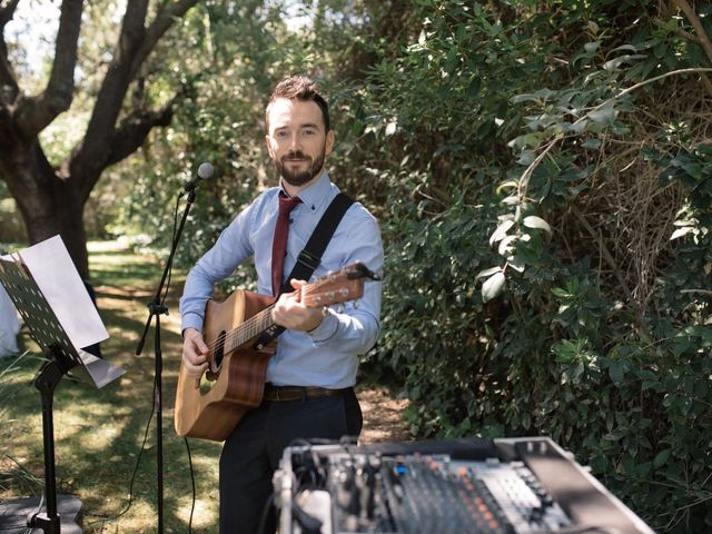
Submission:
[[[99,310],[109,339],[101,344],[109,363],[126,369],[103,389],[62,378],[55,392],[55,445],[59,493],[83,503],[85,533],[158,531],[156,416],[150,421],[129,505],[129,486],[154,408],[155,352],[151,327],[141,356],[136,347],[146,305],[162,274],[162,260],[134,255],[117,244],[90,244],[90,268]],[[161,316],[164,390],[164,521],[166,532],[188,532],[191,482],[184,439],[174,432],[172,407],[181,340],[177,297],[182,279],[174,278]],[[42,421],[33,377],[41,359],[23,329],[22,357],[0,360],[0,501],[39,496],[43,491]],[[4,372],[3,372],[4,370]],[[196,477],[192,532],[217,531],[220,444],[190,441]]]

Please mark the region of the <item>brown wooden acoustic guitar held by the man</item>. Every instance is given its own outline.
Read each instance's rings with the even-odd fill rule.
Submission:
[[[303,286],[299,300],[323,307],[360,298],[364,280],[377,279],[363,264],[354,264]],[[263,400],[267,364],[281,329],[271,320],[275,298],[238,289],[225,301],[206,305],[202,338],[209,368],[188,375],[181,362],[176,390],[175,427],[180,436],[221,442],[245,414]],[[265,337],[266,336],[266,337]]]

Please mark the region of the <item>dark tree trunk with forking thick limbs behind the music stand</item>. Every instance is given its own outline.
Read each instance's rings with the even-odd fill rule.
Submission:
[[[122,109],[129,86],[136,81],[158,40],[198,0],[160,2],[147,24],[149,0],[128,0],[111,65],[97,93],[81,142],[59,168],[52,168],[39,134],[71,106],[77,65],[82,0],[62,0],[52,71],[43,91],[27,96],[12,68],[4,27],[18,0],[0,0],[0,180],[17,201],[30,244],[59,234],[77,266],[89,279],[83,207],[108,166],[134,154],[151,128],[170,123],[172,106],[161,109]]]

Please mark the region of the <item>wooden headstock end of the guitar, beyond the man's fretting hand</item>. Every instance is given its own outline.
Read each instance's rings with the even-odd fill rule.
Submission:
[[[326,275],[301,288],[301,304],[309,308],[355,300],[364,295],[364,281],[378,276],[364,264],[356,263]]]

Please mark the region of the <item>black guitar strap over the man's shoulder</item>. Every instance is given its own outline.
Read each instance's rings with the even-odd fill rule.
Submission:
[[[343,192],[339,192],[334,200],[332,200],[332,204],[326,208],[322,219],[317,222],[316,228],[314,228],[312,237],[309,237],[306,246],[299,253],[297,263],[281,286],[281,293],[294,291],[291,284],[289,284],[289,280],[293,278],[296,278],[297,280],[309,279],[312,273],[314,273],[314,270],[319,266],[322,255],[324,254],[324,250],[326,250],[326,246],[332,240],[332,236],[334,236],[338,224],[342,221],[342,218],[344,218],[346,210],[348,210],[352,204],[354,204],[354,199]],[[263,349],[284,330],[285,328],[283,326],[274,325],[257,338],[253,348],[256,350]]]

